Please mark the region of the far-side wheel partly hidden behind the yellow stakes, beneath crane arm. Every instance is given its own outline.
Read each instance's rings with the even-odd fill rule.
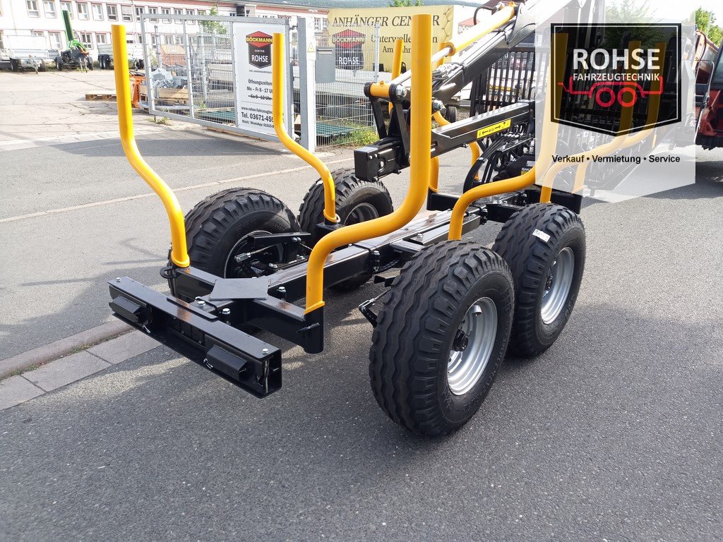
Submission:
[[[392,198],[380,181],[361,181],[354,175],[354,169],[341,169],[332,173],[336,192],[336,214],[343,225],[356,224],[390,214],[394,210]],[[317,224],[324,221],[324,184],[321,179],[309,189],[299,207],[299,225],[303,231],[312,234],[311,243],[317,238]],[[372,277],[362,273],[354,278],[333,285],[336,291],[351,291],[359,288]]]

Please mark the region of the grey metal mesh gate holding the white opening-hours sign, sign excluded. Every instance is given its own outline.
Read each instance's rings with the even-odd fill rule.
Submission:
[[[158,15],[141,18],[146,84],[140,87],[140,103],[154,115],[264,137],[244,129],[242,113],[237,111],[233,42],[234,23],[239,20],[171,14],[163,14],[162,19],[172,20],[177,31],[159,32]],[[244,18],[243,22],[278,24],[279,32],[288,28],[283,20]]]

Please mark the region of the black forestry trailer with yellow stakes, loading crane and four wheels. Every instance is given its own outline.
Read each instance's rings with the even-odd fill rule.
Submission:
[[[497,53],[534,32],[536,15],[544,18],[568,4],[529,0],[524,11],[519,4],[500,4],[486,22],[435,54],[432,17],[415,15],[411,71],[364,89],[380,139],[354,152],[353,169],[335,175],[286,133],[286,46],[283,34],[275,34],[275,131],[320,173],[298,219],[280,199],[240,188],[206,198],[184,219],[174,193],[134,144],[128,74],[116,69],[124,150],[161,197],[171,225],[170,262],[161,272],[171,295],[127,277],[111,280],[116,317],[265,397],[281,389],[281,350],[251,333],[267,330],[318,353],[325,342],[324,288],[350,291],[375,277],[386,289],[359,309],[374,327],[369,374],[377,402],[418,434],[441,436],[461,427],[482,405],[508,345],[518,356],[536,356],[560,336],[581,285],[585,233],[581,196],[539,189],[534,168],[460,196],[438,192],[440,155],[476,143],[490,126],[528,135],[532,101],[435,129],[432,112],[437,118],[437,105],[494,63]],[[118,63],[125,60],[124,35],[124,27],[113,27]],[[469,64],[432,71],[437,61],[468,46],[476,52]],[[386,121],[382,111],[390,105]],[[543,127],[549,132],[540,150],[542,171],[552,162],[557,126]],[[403,168],[410,168],[411,181],[394,210],[381,179]],[[489,196],[502,197],[483,202]],[[427,210],[420,212],[425,199]],[[461,241],[487,220],[503,224],[492,250]],[[304,306],[294,304],[301,298]]]

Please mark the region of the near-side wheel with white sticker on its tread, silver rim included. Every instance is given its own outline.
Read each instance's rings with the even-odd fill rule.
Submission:
[[[560,336],[578,298],[585,267],[582,220],[560,205],[529,205],[502,226],[492,250],[515,279],[510,352],[537,356]]]

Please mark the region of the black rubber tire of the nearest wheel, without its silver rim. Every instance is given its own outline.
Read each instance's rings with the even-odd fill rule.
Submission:
[[[466,411],[461,418],[450,419],[448,414],[458,413],[445,411],[442,403],[450,394],[448,352],[458,327],[454,315],[461,320],[465,314],[466,296],[472,296],[469,304],[479,298],[481,291],[471,288],[479,288],[483,279],[486,288],[501,285],[495,348],[479,382],[457,396],[467,404],[455,408],[463,406]],[[369,377],[382,410],[424,436],[443,436],[463,426],[484,401],[504,360],[513,306],[510,270],[493,251],[470,241],[442,241],[416,254],[391,285],[372,336]]]

